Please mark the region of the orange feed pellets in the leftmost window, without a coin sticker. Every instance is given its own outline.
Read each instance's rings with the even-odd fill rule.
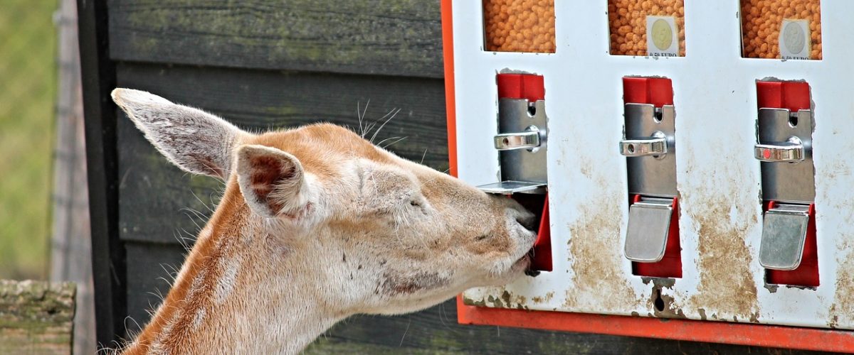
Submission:
[[[486,50],[554,53],[554,0],[483,0]]]

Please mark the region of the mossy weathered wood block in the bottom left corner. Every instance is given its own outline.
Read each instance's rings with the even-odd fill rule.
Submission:
[[[74,283],[0,280],[0,354],[69,354]]]

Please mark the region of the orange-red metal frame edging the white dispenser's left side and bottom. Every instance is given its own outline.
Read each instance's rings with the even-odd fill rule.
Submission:
[[[442,0],[442,44],[445,60],[447,148],[451,175],[457,176],[456,101],[453,86],[452,0]],[[460,324],[564,330],[606,335],[627,335],[681,341],[773,346],[790,349],[854,353],[854,331],[740,324],[719,321],[644,318],[573,312],[524,311],[467,306],[457,297]]]

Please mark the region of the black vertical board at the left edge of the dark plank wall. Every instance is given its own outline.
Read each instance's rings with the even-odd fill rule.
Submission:
[[[92,243],[98,343],[111,344],[121,329],[125,305],[125,257],[118,238],[115,115],[108,100],[115,66],[108,60],[107,6],[77,2],[80,72],[86,139],[86,173]]]

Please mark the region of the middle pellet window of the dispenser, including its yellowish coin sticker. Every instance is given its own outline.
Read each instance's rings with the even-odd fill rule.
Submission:
[[[685,56],[683,0],[607,0],[612,55]]]

